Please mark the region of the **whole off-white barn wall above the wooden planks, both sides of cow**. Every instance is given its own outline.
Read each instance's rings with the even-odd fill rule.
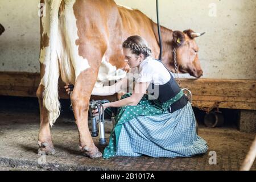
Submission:
[[[115,2],[156,20],[155,0]],[[0,71],[39,72],[38,3],[0,0],[0,23],[6,28],[0,36]],[[159,0],[159,6],[163,26],[207,31],[197,39],[204,78],[256,80],[255,0]]]

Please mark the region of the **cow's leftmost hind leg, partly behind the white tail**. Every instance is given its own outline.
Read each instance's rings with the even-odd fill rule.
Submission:
[[[44,76],[45,65],[40,64],[41,79]],[[39,145],[39,154],[45,152],[47,155],[55,154],[55,150],[52,143],[48,111],[44,108],[43,105],[43,92],[44,85],[40,84],[38,90],[36,91],[36,96],[38,97],[39,107],[40,107],[40,130],[38,135],[38,145]]]

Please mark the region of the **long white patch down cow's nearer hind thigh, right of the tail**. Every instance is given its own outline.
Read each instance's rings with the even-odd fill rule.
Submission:
[[[69,48],[73,69],[75,70],[75,78],[77,79],[81,72],[90,68],[90,65],[87,59],[84,59],[84,57],[79,55],[79,46],[76,45],[76,40],[79,39],[79,36],[77,35],[78,29],[73,11],[75,2],[75,0],[65,1],[63,23],[65,27],[65,39]]]

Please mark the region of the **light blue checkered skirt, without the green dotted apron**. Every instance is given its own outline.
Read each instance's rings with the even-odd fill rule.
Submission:
[[[196,134],[195,115],[188,103],[174,113],[142,116],[124,123],[116,155],[175,158],[207,150],[207,142]]]

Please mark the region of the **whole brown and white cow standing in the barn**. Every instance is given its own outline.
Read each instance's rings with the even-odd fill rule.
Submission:
[[[40,106],[39,152],[54,154],[50,127],[60,115],[58,80],[75,85],[71,95],[79,131],[80,149],[90,158],[102,156],[88,128],[89,100],[94,86],[104,79],[118,80],[130,71],[122,42],[142,36],[159,56],[156,23],[139,10],[127,9],[113,0],[41,0],[46,13],[40,17],[40,77],[36,92]],[[161,27],[163,63],[174,71],[176,48],[180,73],[203,75],[199,48],[192,30],[172,31]]]

